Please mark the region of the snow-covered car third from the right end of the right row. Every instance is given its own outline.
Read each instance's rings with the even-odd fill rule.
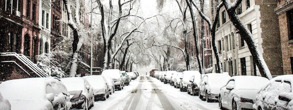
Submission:
[[[228,83],[230,78],[231,77],[228,74],[205,74],[200,80],[200,85],[198,86],[200,99],[205,97],[207,102],[218,100],[220,89]]]

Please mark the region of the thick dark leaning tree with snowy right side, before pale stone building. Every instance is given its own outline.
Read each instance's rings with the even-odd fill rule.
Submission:
[[[236,8],[239,6],[241,1],[242,0],[235,0],[231,3],[230,0],[222,0],[229,15],[230,21],[238,30],[238,33],[241,35],[241,38],[243,38],[244,41],[247,43],[248,49],[253,57],[253,62],[255,62],[255,64],[257,65],[261,76],[268,79],[272,79],[270,70],[268,69],[268,66],[265,63],[265,60],[263,59],[263,56],[258,49],[258,46],[255,44],[251,32],[248,31],[248,28],[244,26],[244,24],[241,22],[241,19],[236,14]]]

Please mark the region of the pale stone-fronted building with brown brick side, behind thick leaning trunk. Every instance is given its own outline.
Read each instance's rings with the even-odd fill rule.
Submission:
[[[210,3],[210,6],[213,6],[211,12],[215,12],[216,4],[214,0]],[[283,74],[279,20],[274,13],[276,7],[277,2],[275,0],[243,0],[236,9],[239,18],[252,33],[253,39],[273,76]],[[230,76],[260,76],[246,42],[229,20],[225,7],[220,9],[218,19],[216,45],[223,71],[229,72]],[[213,68],[216,69],[214,56],[213,65]]]

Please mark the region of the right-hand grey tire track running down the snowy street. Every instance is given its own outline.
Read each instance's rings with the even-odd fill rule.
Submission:
[[[156,95],[158,96],[163,108],[165,110],[175,110],[175,108],[172,106],[172,104],[170,103],[170,101],[168,100],[168,98],[166,97],[166,95],[164,95],[161,92],[158,92],[157,90],[158,87],[156,86],[156,84],[154,84],[153,81],[151,81],[150,77],[147,77],[147,79],[151,82],[151,85],[153,86],[153,90],[155,91]]]

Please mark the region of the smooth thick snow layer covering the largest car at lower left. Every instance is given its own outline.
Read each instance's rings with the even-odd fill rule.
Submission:
[[[12,110],[20,108],[25,110],[52,109],[52,104],[46,97],[47,85],[54,85],[51,82],[62,84],[53,77],[14,79],[1,83],[0,92],[3,97],[9,100]],[[67,91],[62,92],[69,95]]]

